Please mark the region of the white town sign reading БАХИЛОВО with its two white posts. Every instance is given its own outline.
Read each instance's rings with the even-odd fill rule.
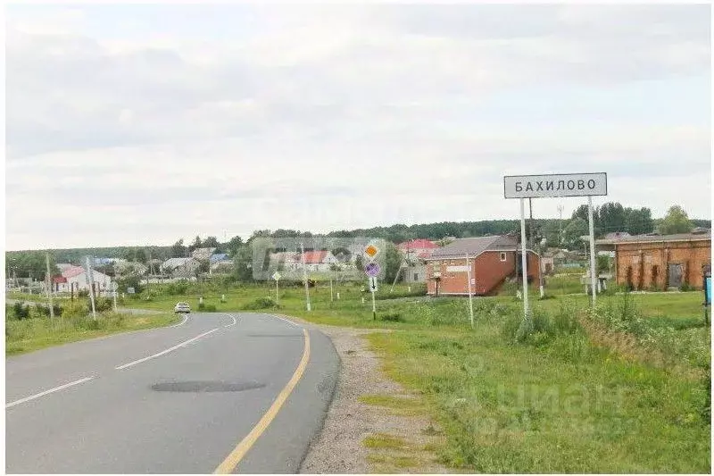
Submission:
[[[593,226],[593,196],[608,195],[608,174],[565,173],[548,175],[515,175],[503,177],[503,196],[520,199],[521,266],[523,268],[523,312],[528,317],[527,251],[525,198],[587,196],[587,214],[590,225],[590,282],[593,288],[593,306],[597,293],[595,271],[595,240]]]

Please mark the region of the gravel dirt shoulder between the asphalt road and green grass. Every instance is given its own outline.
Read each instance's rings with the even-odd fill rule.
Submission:
[[[295,321],[298,321],[295,319]],[[342,360],[335,397],[302,473],[449,472],[436,463],[443,438],[418,397],[388,380],[364,336],[375,330],[317,326]]]

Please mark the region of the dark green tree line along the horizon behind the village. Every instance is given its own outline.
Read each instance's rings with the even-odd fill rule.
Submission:
[[[534,219],[527,220],[527,239],[534,246],[558,246],[580,249],[583,241],[580,237],[588,234],[587,206],[579,206],[569,219]],[[689,219],[685,210],[673,205],[661,219],[652,218],[652,210],[647,207],[631,208],[617,202],[594,207],[594,231],[596,238],[602,238],[613,231],[624,231],[630,235],[639,235],[659,231],[662,234],[684,233],[694,227],[710,228],[710,220]],[[513,234],[519,237],[519,220],[482,220],[482,221],[439,221],[415,225],[394,224],[356,230],[336,230],[328,238],[370,237],[383,238],[392,243],[401,243],[410,239],[426,238],[444,244],[449,238],[469,238],[486,235]],[[53,273],[54,263],[83,264],[87,256],[123,258],[135,263],[148,263],[149,259],[164,261],[171,257],[190,256],[196,248],[212,247],[215,253],[225,253],[234,263],[240,262],[245,267],[250,261],[250,244],[256,238],[297,238],[312,237],[310,231],[301,230],[254,230],[247,240],[239,236],[220,242],[216,237],[200,238],[196,236],[190,243],[183,238],[171,246],[110,246],[94,248],[57,249],[50,252]],[[42,251],[9,251],[5,253],[5,272],[11,278],[45,279],[45,253]],[[243,270],[247,276],[248,271]],[[14,274],[13,274],[14,273]]]

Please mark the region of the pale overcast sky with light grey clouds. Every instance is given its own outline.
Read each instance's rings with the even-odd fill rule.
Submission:
[[[710,218],[708,5],[6,10],[6,246],[517,218],[606,171]],[[534,200],[569,216],[583,198]]]

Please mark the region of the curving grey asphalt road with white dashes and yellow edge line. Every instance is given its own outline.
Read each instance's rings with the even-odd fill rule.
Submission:
[[[5,471],[297,472],[338,368],[320,331],[244,313],[8,358]]]

